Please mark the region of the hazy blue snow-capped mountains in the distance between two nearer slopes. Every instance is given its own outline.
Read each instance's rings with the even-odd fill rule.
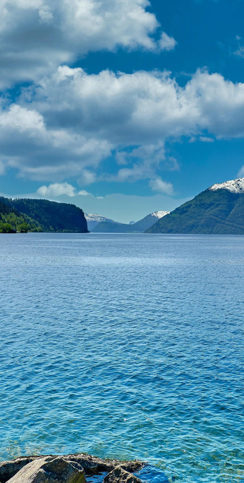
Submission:
[[[129,225],[125,223],[109,223],[108,221],[102,221],[92,232],[96,233],[143,233],[145,230],[150,228],[154,223],[156,223],[160,218],[166,216],[168,211],[155,211],[150,215],[145,216],[142,220],[136,223],[130,223]]]

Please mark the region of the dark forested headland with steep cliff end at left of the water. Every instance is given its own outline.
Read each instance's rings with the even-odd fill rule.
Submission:
[[[88,231],[82,209],[74,204],[27,198],[12,200],[4,197],[0,197],[0,204],[2,207],[7,207],[7,211],[10,209],[8,214],[22,216],[25,223],[33,223],[34,226],[30,226],[31,231],[73,233],[87,233]]]

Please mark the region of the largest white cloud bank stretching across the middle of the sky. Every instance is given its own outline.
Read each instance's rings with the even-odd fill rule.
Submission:
[[[244,84],[197,71],[180,87],[165,72],[88,75],[62,66],[0,108],[0,127],[0,161],[20,176],[76,176],[82,188],[101,179],[97,168],[113,155],[114,181],[159,187],[162,170],[178,169],[165,154],[168,139],[244,137]]]

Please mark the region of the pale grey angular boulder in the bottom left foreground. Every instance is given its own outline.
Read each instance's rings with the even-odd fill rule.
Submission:
[[[35,458],[8,480],[9,483],[86,483],[85,471],[62,456]]]

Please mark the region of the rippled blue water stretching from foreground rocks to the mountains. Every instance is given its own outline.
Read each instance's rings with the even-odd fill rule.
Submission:
[[[244,237],[0,237],[0,458],[244,482]]]

